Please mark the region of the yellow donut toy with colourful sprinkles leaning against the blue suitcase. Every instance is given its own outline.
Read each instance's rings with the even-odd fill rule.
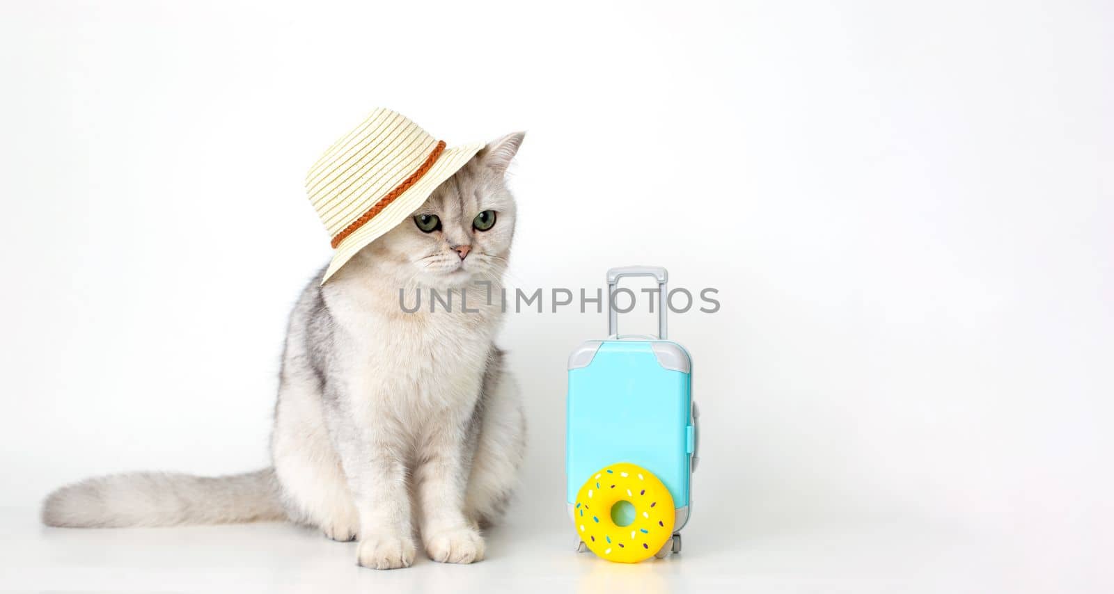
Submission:
[[[612,464],[580,487],[573,517],[593,553],[617,563],[638,563],[673,536],[673,496],[642,466]]]

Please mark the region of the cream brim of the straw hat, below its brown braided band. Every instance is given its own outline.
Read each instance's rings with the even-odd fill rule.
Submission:
[[[483,142],[473,142],[471,145],[461,145],[444,149],[441,156],[437,158],[433,167],[413,186],[402,192],[394,201],[387,205],[383,210],[362,227],[352,231],[351,235],[336,246],[336,249],[333,250],[333,259],[329,263],[329,268],[325,270],[325,276],[322,277],[321,284],[324,285],[329,280],[329,277],[333,276],[336,270],[340,270],[341,266],[344,266],[346,261],[352,259],[368,244],[382,237],[383,234],[393,229],[395,225],[410,218],[413,211],[418,210],[418,207],[433,194],[433,190],[438,186],[459,171],[483,147]]]

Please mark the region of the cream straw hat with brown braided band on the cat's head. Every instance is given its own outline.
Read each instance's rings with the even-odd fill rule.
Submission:
[[[446,148],[417,123],[375,109],[305,175],[305,191],[332,238],[324,285],[364,246],[409,218],[483,142]]]

